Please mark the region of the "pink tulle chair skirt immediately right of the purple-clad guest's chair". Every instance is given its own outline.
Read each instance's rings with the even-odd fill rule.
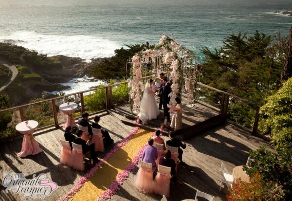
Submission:
[[[154,192],[169,197],[170,178],[171,175],[169,173],[159,172],[154,180]]]

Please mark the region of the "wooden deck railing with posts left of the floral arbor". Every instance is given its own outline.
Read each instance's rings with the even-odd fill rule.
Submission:
[[[152,77],[152,75],[143,77],[143,79],[146,79],[146,78],[149,78],[149,77]],[[81,104],[81,113],[83,113],[83,112],[85,112],[84,93],[91,92],[91,91],[95,91],[95,90],[102,90],[102,89],[104,89],[106,91],[106,95],[105,95],[106,108],[105,108],[105,110],[99,110],[99,111],[90,113],[90,115],[93,115],[93,114],[100,113],[100,112],[103,112],[103,111],[106,111],[106,110],[111,109],[112,106],[113,106],[113,104],[115,104],[115,102],[113,102],[113,100],[112,100],[112,88],[115,87],[115,86],[118,86],[118,85],[121,85],[121,84],[127,84],[127,83],[128,83],[128,81],[125,81],[125,82],[120,82],[120,83],[116,83],[116,84],[113,84],[113,85],[92,88],[92,89],[85,90],[85,91],[78,91],[76,93],[71,93],[71,94],[67,94],[67,95],[63,95],[63,96],[57,96],[57,97],[54,97],[54,98],[49,98],[49,99],[37,101],[37,102],[34,102],[34,103],[28,103],[28,104],[24,104],[24,105],[12,107],[12,108],[2,109],[2,110],[0,110],[0,112],[11,111],[11,110],[19,110],[19,114],[20,114],[21,121],[25,121],[25,120],[28,120],[24,116],[24,108],[25,107],[29,107],[29,106],[33,106],[33,105],[36,105],[36,104],[40,104],[40,103],[44,103],[44,102],[50,101],[51,102],[51,105],[52,105],[52,113],[53,113],[53,116],[54,116],[54,122],[55,122],[55,124],[48,125],[48,126],[45,126],[45,127],[41,127],[41,128],[38,128],[37,130],[41,130],[41,129],[45,129],[45,128],[50,128],[52,126],[55,126],[55,128],[59,128],[59,125],[65,123],[66,121],[58,122],[57,109],[56,109],[56,104],[55,104],[55,100],[56,99],[62,99],[62,98],[66,98],[66,97],[69,97],[69,96],[74,96],[74,95],[78,95],[79,94],[79,96],[80,96],[80,104]],[[78,118],[79,117],[76,117],[75,119],[78,119]]]

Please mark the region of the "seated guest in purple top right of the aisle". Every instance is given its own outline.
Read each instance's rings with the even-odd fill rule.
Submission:
[[[152,171],[153,171],[153,175],[155,175],[156,173],[156,163],[155,160],[158,157],[158,153],[157,153],[157,148],[153,146],[154,140],[153,138],[149,138],[148,139],[148,145],[146,146],[143,154],[142,154],[142,161],[152,164]]]

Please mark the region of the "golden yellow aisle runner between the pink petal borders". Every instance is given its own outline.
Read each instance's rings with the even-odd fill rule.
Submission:
[[[73,201],[96,201],[96,199],[117,179],[117,174],[124,171],[137,151],[147,143],[152,132],[140,129],[126,146],[115,152],[97,171],[89,181],[73,196]]]

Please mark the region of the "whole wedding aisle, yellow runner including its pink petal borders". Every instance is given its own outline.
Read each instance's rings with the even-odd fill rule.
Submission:
[[[81,183],[79,180],[60,200],[96,201],[108,199],[115,194],[118,185],[124,182],[130,170],[138,163],[148,138],[153,134],[151,131],[138,130],[139,128],[135,128],[107,154],[105,160],[90,170],[95,173],[91,173],[90,176],[85,175],[83,179],[86,180],[85,182],[82,182],[81,178]]]

